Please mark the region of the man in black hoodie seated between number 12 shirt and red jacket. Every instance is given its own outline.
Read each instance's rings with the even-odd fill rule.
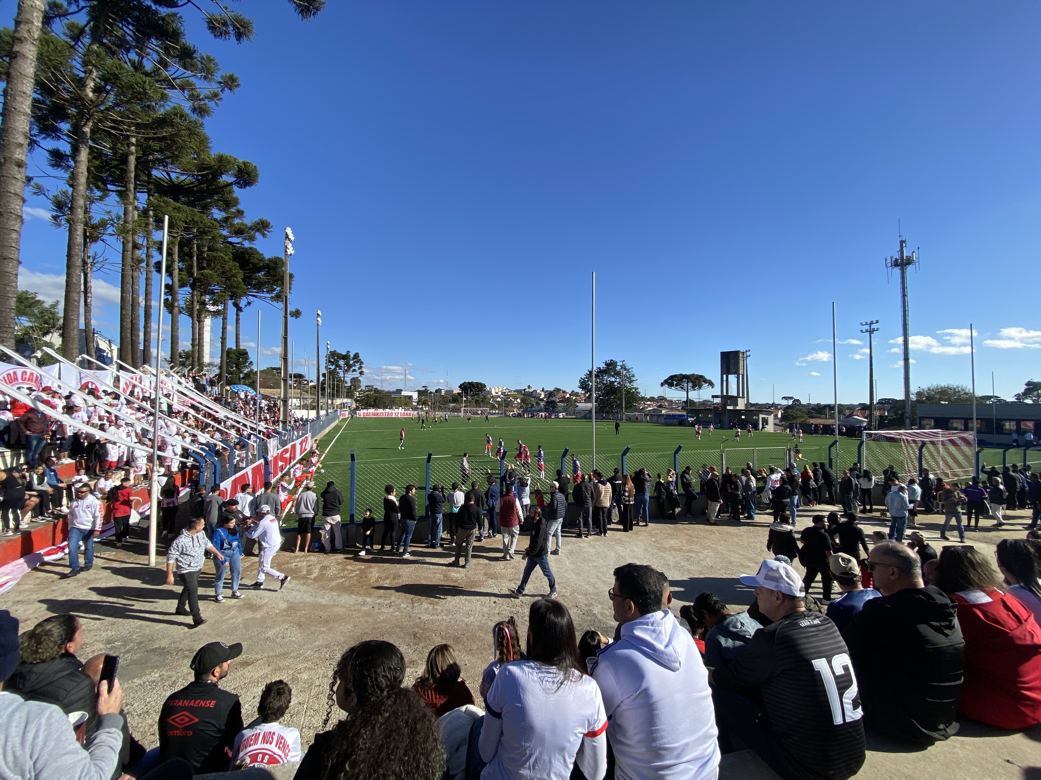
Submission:
[[[882,596],[843,631],[867,723],[916,745],[946,739],[958,731],[964,670],[956,605],[922,581],[921,561],[903,544],[875,545],[868,565]]]

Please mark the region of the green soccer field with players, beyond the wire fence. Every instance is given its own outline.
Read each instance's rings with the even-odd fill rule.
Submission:
[[[398,448],[398,432],[405,428],[405,447]],[[320,448],[327,451],[322,462],[322,472],[316,475],[321,489],[323,480],[333,479],[347,495],[351,484],[351,451],[355,453],[356,519],[360,519],[365,508],[371,508],[378,517],[382,515],[383,487],[393,485],[399,495],[405,485],[422,486],[426,482],[427,453],[432,452],[430,478],[432,483],[451,486],[460,482],[459,462],[463,452],[468,452],[471,480],[484,485],[483,477],[491,473],[499,475],[499,463],[485,454],[485,434],[491,436],[492,449],[502,438],[508,454],[506,464],[514,463],[517,439],[531,451],[533,479],[532,487],[541,487],[549,492],[549,480],[561,468],[560,457],[567,448],[564,467],[570,474],[572,456],[577,456],[583,471],[592,468],[592,442],[589,420],[534,419],[524,417],[492,417],[465,419],[450,417],[447,422],[428,424],[424,431],[420,424],[408,419],[384,419],[358,417],[340,423],[327,434]],[[828,445],[832,439],[823,436],[804,437],[802,452],[809,461],[828,460]],[[677,458],[680,468],[692,466],[694,470],[703,464],[719,467],[722,463],[720,449],[726,449],[726,463],[732,468],[740,468],[745,463],[757,467],[775,465],[784,467],[785,448],[793,442],[788,434],[756,433],[752,438],[742,433],[740,440],[734,433],[716,431],[709,436],[702,433],[701,441],[692,427],[678,425],[657,425],[646,422],[624,422],[618,435],[614,423],[609,420],[596,422],[596,464],[606,474],[621,467],[621,452],[631,447],[626,457],[626,470],[630,473],[646,467],[652,475],[672,467],[676,448],[683,445]],[[535,468],[539,445],[545,451],[545,480],[538,478]],[[840,445],[843,453],[848,450],[853,462],[857,452],[857,440],[847,439]],[[840,462],[846,459],[840,459]]]

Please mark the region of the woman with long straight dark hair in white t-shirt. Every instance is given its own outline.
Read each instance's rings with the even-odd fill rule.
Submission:
[[[556,599],[533,603],[527,644],[527,660],[504,665],[484,698],[482,780],[568,780],[576,763],[588,780],[601,780],[607,714],[579,659],[567,607]]]

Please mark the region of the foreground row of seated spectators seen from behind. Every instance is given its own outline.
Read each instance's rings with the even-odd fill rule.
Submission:
[[[480,700],[451,645],[431,648],[409,685],[395,645],[361,642],[335,665],[326,730],[306,749],[280,722],[293,703],[284,680],[264,686],[245,722],[226,682],[242,644],[199,649],[146,751],[118,680],[100,680],[104,656],[77,658],[75,617],[19,636],[0,613],[0,772],[173,780],[299,761],[300,780],[707,780],[743,745],[786,780],[843,780],[863,764],[865,726],[928,747],[957,733],[959,718],[1041,723],[1041,543],[1004,541],[997,570],[972,547],[945,547],[925,558],[925,578],[920,550],[867,549],[870,588],[853,555],[829,556],[842,594],[830,604],[779,555],[740,577],[755,591],[746,612],[704,593],[681,620],[665,574],[626,564],[606,595],[611,638],[580,639],[553,598],[532,603],[524,639],[513,617],[496,623]]]

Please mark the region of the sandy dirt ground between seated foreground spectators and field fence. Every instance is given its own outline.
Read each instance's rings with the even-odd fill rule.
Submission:
[[[923,518],[921,525],[939,549],[940,522],[935,518]],[[1004,537],[1021,538],[1026,513],[1012,513],[1011,519],[1013,524],[1000,530],[985,520],[988,527],[971,534],[970,543],[989,553]],[[805,524],[801,517],[798,526]],[[863,525],[868,536],[883,527],[869,518]],[[565,536],[562,554],[550,557],[559,598],[570,608],[579,632],[586,628],[613,632],[607,590],[612,569],[629,562],[651,564],[668,575],[677,614],[680,605],[703,591],[742,608],[752,601],[751,591],[736,577],[754,573],[766,554],[765,518],[740,524],[723,520],[718,527],[696,521],[655,522],[631,534],[611,527],[607,539]],[[525,543],[522,538],[519,546]],[[289,584],[278,591],[269,579],[265,590],[246,590],[238,601],[211,600],[212,569],[207,569],[200,590],[208,622],[191,630],[189,619],[173,615],[178,589],[163,584],[162,569],[147,566],[139,536],[122,550],[107,543],[98,549],[93,571],[62,580],[64,562],[45,564],[4,594],[2,606],[22,621],[23,630],[49,615],[74,613],[84,625],[82,659],[100,652],[119,653],[130,726],[148,747],[157,742],[155,719],[163,698],[191,680],[188,660],[206,642],[244,644],[243,655],[232,662],[223,686],[242,697],[247,721],[264,683],[282,678],[293,685],[294,703],[282,722],[300,729],[306,747],[323,729],[332,667],[354,643],[384,639],[397,644],[408,661],[409,680],[418,675],[433,645],[451,643],[477,696],[481,671],[491,659],[492,624],[515,615],[523,635],[532,598],[548,592],[545,578],[536,569],[524,598],[517,601],[505,595],[508,587],[517,584],[524,564],[519,556],[512,562],[498,560],[499,540],[479,543],[468,570],[446,566],[452,553],[422,546],[414,548],[410,561],[283,551],[275,556],[274,566],[293,576]],[[247,558],[243,568],[243,582],[248,584],[254,579],[256,558]],[[812,592],[819,594],[819,584]],[[868,744],[867,760],[858,775],[865,780],[1041,778],[1041,727],[1010,733],[966,722],[956,737],[924,751],[874,735],[869,735]],[[775,777],[747,752],[727,757],[720,776]]]

